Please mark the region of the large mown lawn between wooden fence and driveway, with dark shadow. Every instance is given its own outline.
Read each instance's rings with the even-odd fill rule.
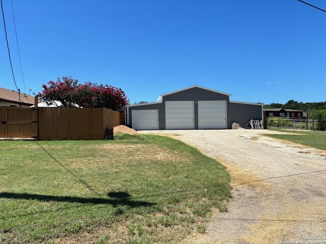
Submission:
[[[169,137],[2,141],[0,158],[1,243],[177,243],[231,197],[224,166]]]

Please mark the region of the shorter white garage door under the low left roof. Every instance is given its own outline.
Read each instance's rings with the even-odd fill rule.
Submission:
[[[144,109],[132,110],[132,129],[158,130],[158,110]]]

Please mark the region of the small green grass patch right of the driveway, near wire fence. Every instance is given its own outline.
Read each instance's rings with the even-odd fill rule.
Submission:
[[[296,133],[297,135],[266,134],[266,136],[326,150],[326,131],[294,131],[294,130],[289,131],[289,130],[280,130],[280,129],[268,129],[268,130]]]

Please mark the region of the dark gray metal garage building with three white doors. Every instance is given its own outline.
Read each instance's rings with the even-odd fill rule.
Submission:
[[[160,95],[154,103],[129,105],[127,125],[135,130],[231,129],[262,120],[263,104],[230,101],[230,94],[194,85]]]

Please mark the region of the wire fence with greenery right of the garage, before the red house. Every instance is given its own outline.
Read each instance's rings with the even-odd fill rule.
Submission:
[[[318,120],[308,119],[308,121],[306,121],[305,118],[267,118],[267,128],[307,130],[308,126],[308,130],[312,130],[313,127],[316,129],[317,124]]]

